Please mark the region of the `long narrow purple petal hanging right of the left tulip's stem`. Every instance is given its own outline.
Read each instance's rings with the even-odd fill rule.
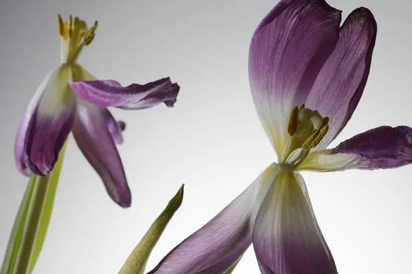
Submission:
[[[122,160],[106,124],[106,109],[78,99],[73,136],[91,166],[100,175],[108,195],[124,208],[131,195]]]

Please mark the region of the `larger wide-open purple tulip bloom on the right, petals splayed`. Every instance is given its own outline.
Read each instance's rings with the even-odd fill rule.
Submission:
[[[261,273],[338,273],[299,171],[412,162],[406,126],[371,129],[327,149],[361,99],[376,41],[366,8],[340,21],[341,11],[323,0],[282,0],[264,17],[251,40],[249,80],[277,162],[150,273],[224,273],[252,243]]]

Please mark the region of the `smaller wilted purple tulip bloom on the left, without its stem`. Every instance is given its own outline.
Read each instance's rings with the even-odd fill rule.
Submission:
[[[122,142],[125,124],[117,122],[106,107],[128,110],[172,107],[179,86],[169,78],[145,85],[122,87],[115,81],[97,81],[77,64],[80,52],[92,42],[96,21],[88,28],[78,17],[67,22],[58,16],[61,64],[38,88],[16,135],[16,166],[24,175],[47,176],[70,132],[91,166],[100,175],[110,197],[122,207],[131,196],[122,160],[115,144]],[[86,81],[86,82],[82,82]],[[91,92],[84,94],[84,88]],[[77,94],[77,95],[76,95]]]

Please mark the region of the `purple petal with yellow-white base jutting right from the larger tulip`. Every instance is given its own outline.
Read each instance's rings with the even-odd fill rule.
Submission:
[[[358,134],[334,149],[310,153],[300,169],[393,169],[412,163],[412,128],[382,126]]]

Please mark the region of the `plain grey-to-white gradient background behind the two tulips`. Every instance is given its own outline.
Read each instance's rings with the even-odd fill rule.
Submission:
[[[34,91],[60,62],[56,14],[99,27],[79,63],[127,85],[170,76],[174,109],[113,110],[126,121],[119,146],[133,194],[124,210],[70,136],[54,214],[34,273],[117,273],[165,204],[186,184],[183,206],[153,251],[152,269],[275,160],[249,91],[255,27],[276,0],[20,1],[0,3],[0,260],[27,178],[14,166],[16,129]],[[328,1],[347,16],[365,6],[378,21],[369,82],[332,145],[379,125],[412,125],[409,1]],[[339,273],[411,273],[412,166],[304,173]],[[258,273],[250,248],[235,273]]]

